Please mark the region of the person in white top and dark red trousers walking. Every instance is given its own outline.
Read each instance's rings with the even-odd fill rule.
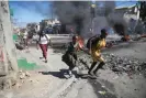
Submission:
[[[38,44],[40,44],[40,47],[42,50],[43,57],[40,57],[40,58],[41,59],[45,58],[45,63],[47,63],[47,46],[48,46],[48,43],[49,43],[49,37],[45,34],[44,31],[41,32],[40,33]]]

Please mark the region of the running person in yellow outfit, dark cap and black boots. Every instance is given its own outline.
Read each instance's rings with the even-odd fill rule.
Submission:
[[[91,70],[94,68],[94,66],[97,65],[98,62],[100,62],[100,64],[98,65],[98,67],[93,70],[93,74],[97,76],[97,72],[102,68],[102,66],[105,64],[104,58],[101,56],[101,50],[103,47],[105,47],[105,37],[106,37],[108,33],[105,29],[101,30],[101,34],[98,39],[98,41],[91,45],[90,52],[91,52],[91,56],[93,59],[93,63],[91,64],[91,67],[89,68],[88,74],[91,74]]]

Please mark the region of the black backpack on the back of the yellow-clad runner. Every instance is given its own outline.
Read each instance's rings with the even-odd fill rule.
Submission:
[[[100,37],[99,36],[92,36],[88,40],[87,42],[87,48],[90,50],[90,45],[91,46],[96,46],[96,44],[99,42]]]

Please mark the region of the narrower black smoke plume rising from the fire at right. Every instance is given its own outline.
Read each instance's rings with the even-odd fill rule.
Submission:
[[[115,10],[115,2],[105,1],[104,8],[109,26],[113,28],[114,32],[119,35],[125,35],[125,32],[127,31],[127,23],[124,20],[124,14]]]

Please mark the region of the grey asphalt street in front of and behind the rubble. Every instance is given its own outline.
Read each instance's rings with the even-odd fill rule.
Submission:
[[[146,43],[141,41],[123,43],[121,46],[104,51],[104,53],[145,61],[145,48]],[[146,78],[142,75],[132,75],[130,78],[126,74],[119,76],[111,70],[99,70],[97,80],[79,79],[58,98],[145,98],[145,80]]]

